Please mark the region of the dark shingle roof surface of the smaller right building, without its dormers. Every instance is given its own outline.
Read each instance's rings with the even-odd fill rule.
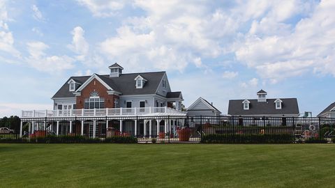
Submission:
[[[299,114],[299,107],[296,98],[281,99],[281,109],[276,109],[274,101],[277,99],[267,99],[267,102],[258,100],[248,100],[249,109],[244,110],[242,102],[244,100],[230,100],[228,114],[232,116],[251,116],[251,115],[278,115],[278,114]]]

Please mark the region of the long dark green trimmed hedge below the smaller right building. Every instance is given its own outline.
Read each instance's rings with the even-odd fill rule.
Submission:
[[[201,143],[293,143],[292,134],[207,134]]]

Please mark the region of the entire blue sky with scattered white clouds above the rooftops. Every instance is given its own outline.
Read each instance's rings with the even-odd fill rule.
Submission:
[[[184,104],[297,97],[334,102],[335,1],[0,0],[0,116],[52,109],[70,76],[166,70]]]

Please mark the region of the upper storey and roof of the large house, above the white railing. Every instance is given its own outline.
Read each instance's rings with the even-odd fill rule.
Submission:
[[[112,109],[175,107],[181,110],[180,91],[172,92],[166,72],[123,74],[117,63],[110,75],[70,77],[52,97],[54,109]]]

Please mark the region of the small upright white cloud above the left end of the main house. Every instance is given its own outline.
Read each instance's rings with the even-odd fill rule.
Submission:
[[[79,61],[84,61],[89,52],[89,43],[84,38],[84,29],[80,26],[76,26],[71,34],[73,35],[72,44],[68,47],[78,54],[77,59]]]

